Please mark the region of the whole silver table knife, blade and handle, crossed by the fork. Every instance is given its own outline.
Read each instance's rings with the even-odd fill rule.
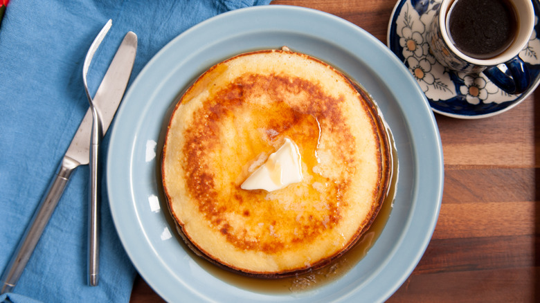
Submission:
[[[135,33],[129,32],[118,47],[116,55],[114,55],[107,73],[105,73],[93,98],[94,102],[98,104],[98,113],[102,120],[102,134],[104,135],[111,125],[116,109],[118,109],[124,95],[129,76],[132,73],[136,49],[137,36]],[[49,219],[51,219],[51,215],[69,182],[69,178],[77,167],[89,163],[91,127],[92,114],[89,109],[82,118],[82,122],[57,168],[45,196],[39,202],[21,241],[19,241],[8,266],[6,266],[0,278],[2,283],[0,293],[8,293],[15,288],[43,230]]]

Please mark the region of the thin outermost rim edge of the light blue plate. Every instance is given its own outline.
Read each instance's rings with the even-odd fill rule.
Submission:
[[[387,53],[386,55],[389,55],[390,56],[390,61],[392,61],[393,64],[395,64],[396,62],[397,63],[401,63],[399,62],[399,59],[397,59],[397,57],[388,49],[386,48],[386,46],[384,46],[384,44],[382,44],[378,39],[376,39],[375,37],[373,37],[372,35],[370,35],[369,33],[367,33],[365,30],[359,28],[358,26],[350,23],[349,21],[346,21],[344,19],[341,19],[340,17],[336,17],[334,15],[330,15],[326,12],[321,12],[319,10],[314,10],[312,8],[301,8],[301,7],[297,7],[297,6],[279,6],[279,5],[272,5],[272,6],[255,6],[255,7],[251,7],[251,8],[242,8],[242,9],[239,9],[239,10],[233,10],[233,11],[230,11],[230,12],[225,12],[221,15],[217,15],[215,17],[212,17],[210,19],[207,19],[206,21],[203,21],[195,26],[193,26],[192,28],[186,30],[185,32],[181,33],[180,35],[178,35],[177,37],[175,37],[174,39],[172,39],[168,44],[166,44],[165,46],[163,46],[163,48],[161,48],[161,50],[159,50],[156,55],[154,55],[154,57],[152,57],[152,59],[150,59],[149,62],[147,62],[147,64],[144,66],[144,68],[141,70],[141,72],[137,75],[136,79],[134,80],[134,82],[132,83],[132,85],[129,87],[126,95],[125,95],[125,100],[129,100],[129,98],[132,98],[132,94],[133,94],[133,91],[135,90],[134,88],[136,88],[137,86],[140,86],[141,84],[139,82],[142,82],[143,80],[143,77],[145,77],[145,75],[149,72],[151,66],[153,66],[154,64],[156,64],[156,62],[159,61],[160,57],[163,55],[163,53],[166,53],[168,51],[169,48],[172,48],[172,46],[174,46],[174,44],[177,44],[179,43],[179,41],[181,41],[182,39],[184,39],[184,37],[188,36],[188,35],[191,35],[192,33],[196,33],[198,30],[200,30],[200,28],[206,28],[206,26],[209,26],[213,23],[215,23],[217,20],[220,20],[220,19],[226,19],[226,18],[231,18],[231,17],[238,17],[238,15],[242,15],[242,14],[255,14],[257,12],[264,12],[265,14],[266,13],[270,13],[269,11],[270,10],[274,10],[275,12],[284,12],[284,11],[287,11],[287,12],[296,12],[296,13],[301,13],[301,14],[308,14],[308,15],[316,15],[318,17],[321,17],[323,19],[328,19],[329,21],[334,21],[334,22],[338,22],[339,24],[343,25],[343,26],[347,26],[349,28],[352,28],[353,30],[357,30],[359,31],[359,33],[362,33],[361,35],[366,35],[366,38],[367,39],[370,39],[370,41],[374,42],[375,44],[379,44],[379,47],[380,46],[383,46],[386,50],[387,50]],[[397,65],[396,65],[397,66]],[[404,69],[404,71],[406,71],[406,67],[403,66],[403,64],[401,64],[402,68]],[[399,68],[399,66],[397,67]],[[408,71],[406,71],[407,74],[408,74]],[[411,79],[409,79],[409,81],[411,81]],[[414,87],[413,89],[416,89],[417,91],[420,90],[420,87],[417,86],[415,80],[412,80],[413,82],[411,83],[414,83]],[[424,97],[424,103],[426,104],[426,107],[427,109],[429,109],[429,113],[431,114],[431,116],[428,118],[429,122],[431,123],[431,126],[433,127],[433,135],[435,136],[435,139],[437,141],[437,146],[435,146],[435,154],[436,154],[436,157],[433,159],[434,160],[434,164],[435,167],[437,168],[437,176],[435,176],[437,179],[438,179],[438,184],[437,184],[437,188],[435,188],[435,192],[434,193],[431,193],[431,196],[435,196],[435,212],[433,214],[431,214],[431,221],[429,222],[429,226],[431,228],[431,232],[428,232],[425,237],[424,237],[424,241],[422,242],[422,247],[420,248],[420,252],[417,252],[415,254],[415,257],[413,258],[413,261],[411,262],[411,264],[408,264],[408,268],[406,269],[406,274],[403,275],[400,279],[399,279],[399,282],[397,282],[392,288],[388,288],[386,293],[384,293],[383,297],[381,297],[381,299],[383,300],[386,300],[388,297],[390,297],[390,295],[392,295],[396,290],[397,288],[399,288],[399,286],[402,285],[402,283],[404,282],[404,280],[408,277],[408,275],[410,275],[413,271],[413,269],[415,268],[416,264],[418,261],[420,261],[420,258],[422,257],[427,245],[429,244],[429,241],[431,240],[431,235],[433,234],[433,230],[435,229],[435,224],[436,224],[436,221],[438,219],[438,214],[439,214],[439,210],[440,210],[440,204],[441,204],[441,200],[442,200],[442,187],[443,187],[443,180],[444,180],[444,165],[443,165],[443,160],[442,160],[442,145],[440,143],[440,134],[438,133],[438,127],[436,125],[436,121],[435,121],[435,118],[433,116],[433,112],[431,111],[431,107],[429,107],[429,104],[427,103],[427,100],[424,96],[424,93],[420,90],[420,93],[422,94],[422,96]],[[401,104],[399,104],[401,105]],[[125,108],[127,107],[126,105],[126,102],[123,102],[123,104],[120,105],[120,109],[118,111],[118,114],[117,116],[122,116],[123,114],[123,111],[125,111]],[[121,118],[117,119],[117,120],[120,120]],[[111,144],[109,146],[109,152],[107,154],[107,163],[113,163],[114,162],[114,152],[115,152],[115,145],[114,145],[114,142],[116,142],[115,138],[117,136],[119,136],[117,133],[118,133],[118,129],[119,127],[117,127],[117,124],[115,123],[112,131],[111,131]],[[418,161],[417,161],[418,162]],[[415,163],[416,165],[418,165],[418,163]],[[418,169],[418,167],[415,167],[415,169]],[[107,165],[107,176],[112,176],[114,174],[112,174],[111,172],[111,165]],[[114,185],[114,184],[111,184],[110,182],[112,178],[107,178],[107,187],[110,189],[111,188],[111,185]],[[127,255],[129,256],[129,258],[132,260],[132,263],[134,264],[135,268],[138,270],[138,272],[141,274],[141,276],[143,276],[143,278],[147,278],[147,273],[141,273],[141,265],[138,264],[138,261],[135,261],[134,260],[134,252],[132,252],[129,248],[126,247],[126,244],[125,244],[125,241],[126,240],[126,237],[127,235],[125,235],[123,233],[123,230],[118,226],[120,223],[119,223],[119,220],[120,220],[120,214],[118,214],[118,212],[116,211],[116,207],[114,207],[114,199],[115,197],[113,196],[114,193],[111,193],[111,190],[108,190],[109,192],[109,203],[111,203],[111,213],[112,213],[112,217],[114,219],[114,225],[115,225],[115,228],[118,232],[118,236],[120,237],[120,240],[122,241],[122,244],[127,252]],[[133,192],[131,192],[130,194],[133,195]],[[135,210],[136,212],[136,210]],[[138,214],[136,214],[137,217],[138,217]],[[140,217],[138,217],[138,219],[140,220]],[[411,222],[408,222],[408,225],[411,224]],[[145,237],[147,237],[147,235],[145,235]],[[405,237],[405,235],[402,235],[402,237]],[[395,248],[395,250],[397,250],[398,248]],[[161,260],[160,260],[161,261]],[[147,280],[147,283],[150,284],[152,286],[152,288],[154,289],[154,291],[156,291],[156,293],[159,293],[159,295],[161,295],[161,297],[166,297],[165,294],[161,293],[159,291],[159,289],[156,289],[156,286],[154,285],[154,283],[152,281],[149,281],[148,279]]]

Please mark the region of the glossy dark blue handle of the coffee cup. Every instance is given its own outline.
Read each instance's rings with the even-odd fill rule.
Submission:
[[[526,91],[530,85],[527,64],[519,56],[516,56],[506,62],[505,65],[512,77],[503,73],[497,66],[490,66],[483,73],[493,84],[507,93],[518,94]]]

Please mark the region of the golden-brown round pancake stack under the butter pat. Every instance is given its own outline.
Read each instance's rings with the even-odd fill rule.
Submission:
[[[302,179],[241,185],[285,141]],[[369,95],[319,59],[288,50],[237,55],[177,103],[163,145],[163,188],[186,244],[236,273],[277,278],[351,248],[390,182],[386,127]]]

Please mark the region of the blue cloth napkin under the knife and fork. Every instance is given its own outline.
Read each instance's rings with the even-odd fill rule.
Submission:
[[[152,56],[184,30],[228,10],[269,2],[10,1],[0,27],[0,270],[6,268],[87,111],[82,62],[108,19],[113,25],[87,74],[91,95],[127,31],[138,35],[131,83]],[[104,154],[108,137],[102,144]],[[1,295],[0,301],[129,300],[136,270],[116,234],[105,182],[100,284],[87,286],[88,178],[88,165],[75,170],[14,293]]]

